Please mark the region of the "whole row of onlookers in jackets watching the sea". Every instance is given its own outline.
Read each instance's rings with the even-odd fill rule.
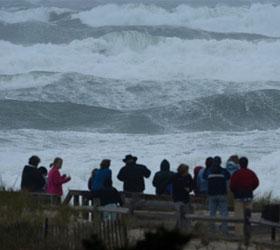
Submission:
[[[126,155],[124,166],[120,169],[117,178],[123,182],[123,191],[143,193],[145,178],[149,178],[151,171],[137,162],[137,157]],[[62,185],[71,180],[71,177],[60,174],[63,164],[61,158],[55,158],[48,172],[45,167],[38,167],[40,158],[32,156],[29,164],[22,173],[22,190],[29,192],[47,192],[61,196]],[[104,159],[99,168],[95,168],[88,180],[88,189],[92,195],[100,199],[102,206],[122,206],[119,192],[112,185],[111,161]],[[170,163],[164,159],[160,164],[160,171],[156,172],[153,181],[157,195],[170,195],[175,208],[180,211],[190,209],[190,193],[208,198],[210,216],[228,216],[229,197],[234,198],[235,213],[243,217],[244,208],[252,205],[253,191],[258,187],[257,175],[248,168],[248,159],[237,155],[229,157],[222,167],[219,156],[208,157],[205,166],[194,168],[193,177],[189,173],[189,166],[180,164],[177,172],[170,170]],[[221,225],[221,230],[227,232],[227,223]],[[238,229],[239,231],[241,229]]]

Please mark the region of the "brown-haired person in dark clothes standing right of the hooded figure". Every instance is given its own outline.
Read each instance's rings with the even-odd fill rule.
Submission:
[[[178,228],[185,228],[190,225],[190,220],[184,218],[184,215],[190,212],[190,192],[193,190],[193,179],[189,174],[189,166],[180,164],[177,173],[172,177],[172,199],[175,202],[177,210]]]

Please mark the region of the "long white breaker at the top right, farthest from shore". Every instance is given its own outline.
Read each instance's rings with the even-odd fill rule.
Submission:
[[[108,4],[73,14],[90,26],[179,25],[216,32],[243,32],[280,36],[280,6],[252,4],[249,7],[218,5],[194,8],[180,5],[167,10],[155,5]],[[265,21],[263,21],[265,20]]]

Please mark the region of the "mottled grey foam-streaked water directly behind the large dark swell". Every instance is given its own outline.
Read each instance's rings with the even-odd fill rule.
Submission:
[[[0,75],[0,99],[70,102],[123,111],[162,107],[174,102],[241,92],[275,89],[279,82],[126,81],[78,73],[30,72]]]

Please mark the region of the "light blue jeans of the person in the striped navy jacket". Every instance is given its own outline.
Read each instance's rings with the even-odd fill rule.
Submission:
[[[217,211],[219,211],[220,215],[224,218],[228,217],[228,200],[226,195],[211,195],[208,196],[208,205],[210,216],[215,217]],[[214,229],[214,223],[212,223],[212,228]],[[223,233],[228,232],[227,222],[222,222],[221,224],[221,231]]]

